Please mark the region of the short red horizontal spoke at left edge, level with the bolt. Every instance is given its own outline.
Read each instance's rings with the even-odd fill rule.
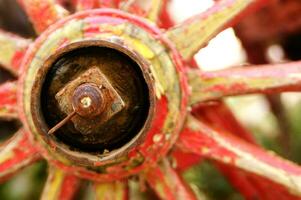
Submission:
[[[0,119],[17,118],[17,83],[0,85]]]

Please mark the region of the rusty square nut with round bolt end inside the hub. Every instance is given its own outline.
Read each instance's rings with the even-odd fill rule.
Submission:
[[[89,97],[92,101],[91,106],[86,108],[81,102],[85,97]],[[55,98],[64,113],[67,115],[73,111],[77,113],[71,121],[82,134],[89,134],[99,129],[125,107],[125,102],[120,95],[96,67],[88,69],[69,82],[55,95]]]

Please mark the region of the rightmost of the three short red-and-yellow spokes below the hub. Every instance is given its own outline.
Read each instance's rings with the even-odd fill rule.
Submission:
[[[161,199],[197,199],[190,187],[167,160],[164,160],[160,166],[149,169],[145,176],[148,184]]]

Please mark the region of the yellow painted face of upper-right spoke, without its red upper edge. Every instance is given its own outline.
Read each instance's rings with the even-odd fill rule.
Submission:
[[[196,17],[167,32],[167,37],[175,43],[185,59],[189,59],[204,47],[231,19],[254,1],[235,0],[228,7],[223,5],[224,2],[229,1],[220,1],[221,8],[219,10],[212,9],[208,12],[207,18]]]

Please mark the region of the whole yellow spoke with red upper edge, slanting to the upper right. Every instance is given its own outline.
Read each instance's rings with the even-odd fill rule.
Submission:
[[[167,31],[183,58],[190,60],[210,39],[234,25],[246,13],[266,0],[220,0],[204,13],[196,15]]]

